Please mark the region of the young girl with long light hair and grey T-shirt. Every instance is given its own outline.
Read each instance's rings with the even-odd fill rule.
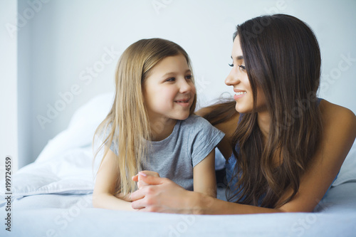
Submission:
[[[131,210],[135,181],[145,186],[135,175],[142,170],[216,196],[214,147],[224,133],[194,115],[197,95],[184,49],[160,38],[137,41],[122,53],[115,83],[112,109],[95,132],[104,155],[93,206]]]

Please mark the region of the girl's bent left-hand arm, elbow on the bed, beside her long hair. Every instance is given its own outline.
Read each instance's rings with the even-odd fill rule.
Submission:
[[[129,197],[121,196],[119,199],[115,196],[115,184],[118,181],[116,167],[115,154],[109,149],[96,176],[93,206],[102,209],[133,211]]]

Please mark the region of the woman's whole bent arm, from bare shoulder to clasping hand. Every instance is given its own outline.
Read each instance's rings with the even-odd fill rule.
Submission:
[[[169,179],[145,177],[147,184],[132,193],[132,207],[141,211],[173,212],[184,214],[257,214],[273,212],[313,211],[335,179],[342,162],[356,137],[356,117],[352,111],[330,104],[320,103],[323,116],[323,138],[313,163],[300,179],[295,197],[278,209],[235,204],[214,199],[206,194],[186,191]],[[281,200],[290,196],[286,191]]]

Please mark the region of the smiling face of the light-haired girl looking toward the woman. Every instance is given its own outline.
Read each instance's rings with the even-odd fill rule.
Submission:
[[[186,58],[179,54],[157,63],[144,82],[143,95],[150,120],[187,119],[195,86]]]

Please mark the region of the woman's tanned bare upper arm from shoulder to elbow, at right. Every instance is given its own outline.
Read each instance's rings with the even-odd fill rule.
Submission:
[[[322,100],[323,135],[313,162],[300,179],[298,193],[281,206],[283,211],[313,211],[333,183],[356,137],[356,117],[351,110]],[[287,191],[282,199],[291,194]]]

